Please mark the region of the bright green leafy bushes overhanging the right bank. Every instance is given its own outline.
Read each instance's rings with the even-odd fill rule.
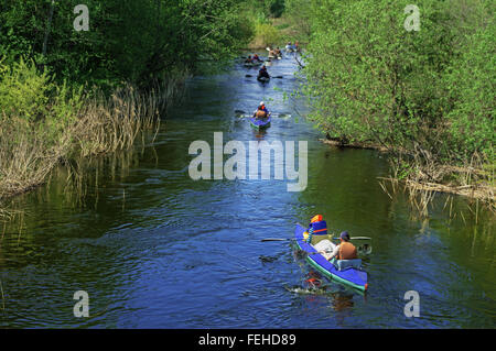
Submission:
[[[436,162],[488,156],[494,144],[494,22],[478,1],[289,0],[311,22],[312,118],[331,135]]]

